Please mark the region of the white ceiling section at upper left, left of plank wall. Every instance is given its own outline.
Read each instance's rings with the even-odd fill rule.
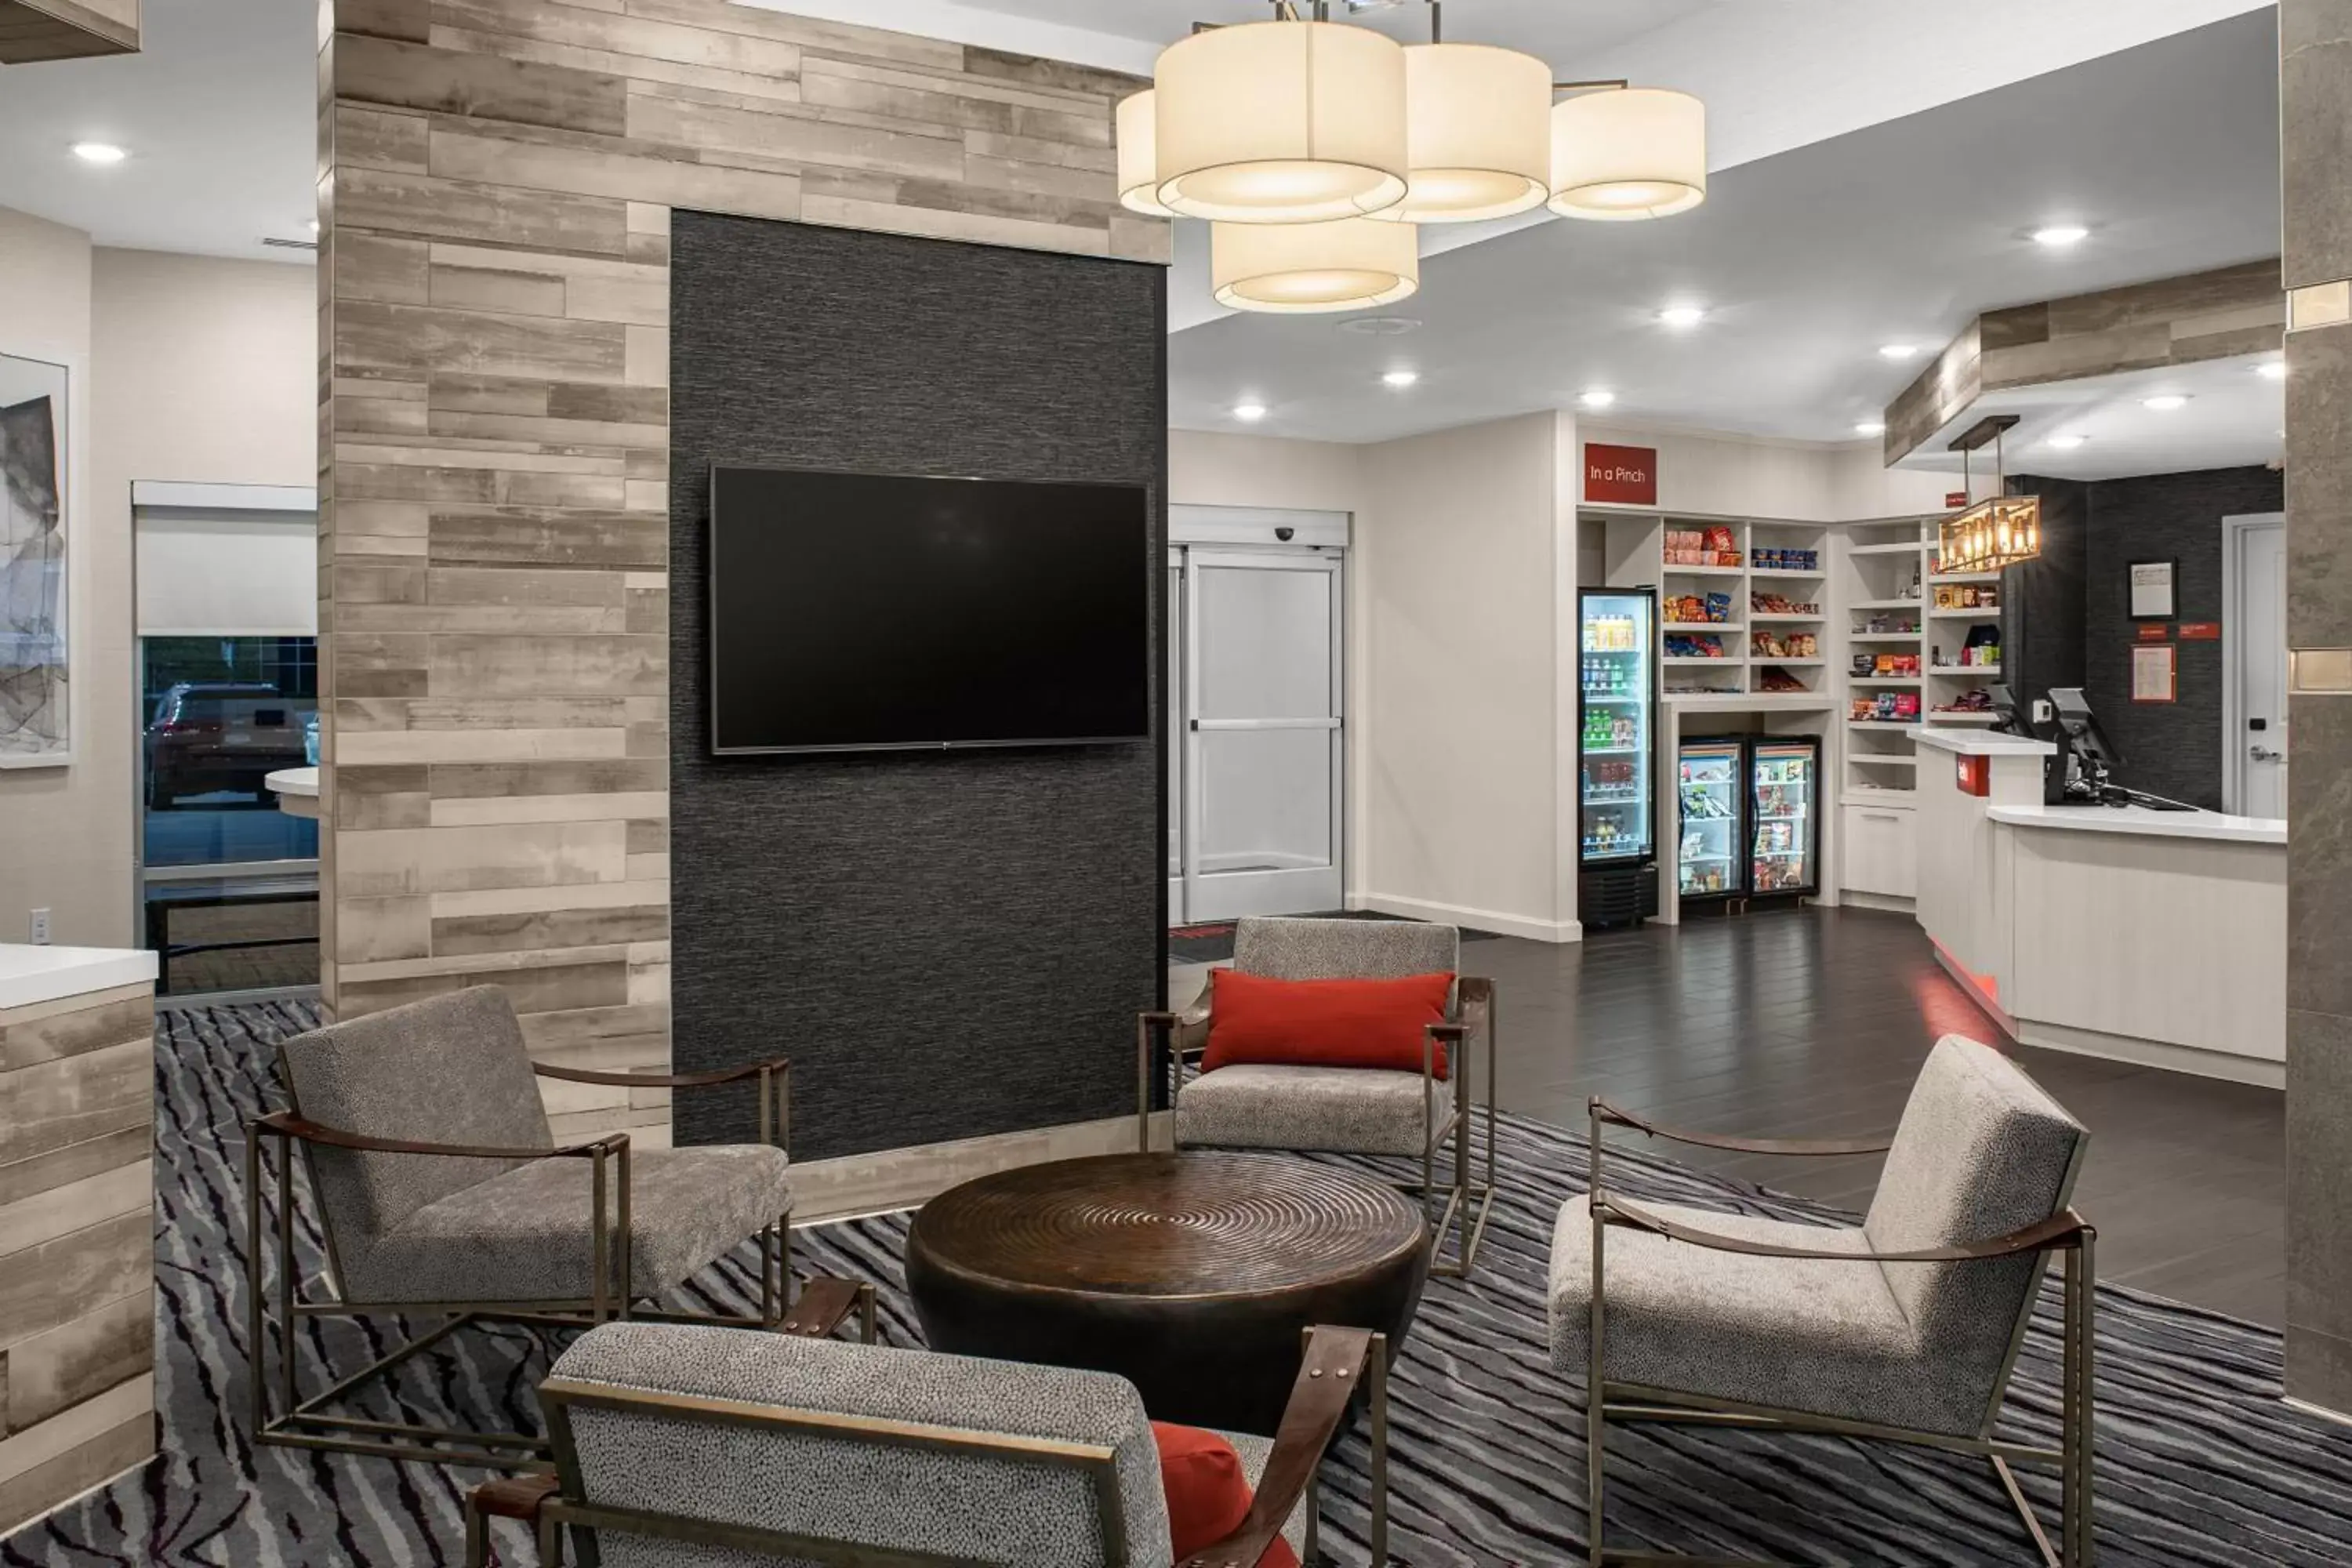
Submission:
[[[0,66],[0,207],[99,244],[308,261],[315,0],[146,0],[141,52]],[[101,169],[68,150],[111,141]]]

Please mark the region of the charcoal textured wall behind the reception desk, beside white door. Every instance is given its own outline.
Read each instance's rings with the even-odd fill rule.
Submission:
[[[2180,642],[2178,703],[2131,701],[2138,621],[2126,597],[2131,562],[2178,559],[2173,625],[2223,621],[2223,517],[2277,512],[2286,482],[2274,468],[2209,468],[2091,484],[2084,588],[2084,693],[2124,752],[2122,783],[2220,811],[2223,644]]]

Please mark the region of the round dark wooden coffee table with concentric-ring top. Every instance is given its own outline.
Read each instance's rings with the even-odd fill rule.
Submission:
[[[1272,1434],[1312,1324],[1390,1356],[1430,1248],[1395,1187],[1275,1154],[1103,1154],[953,1187],[906,1286],[931,1349],[1120,1373],[1157,1420]]]

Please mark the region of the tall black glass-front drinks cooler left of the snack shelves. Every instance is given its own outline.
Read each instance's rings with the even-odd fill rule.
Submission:
[[[1578,592],[1578,914],[1630,924],[1658,912],[1658,592]]]

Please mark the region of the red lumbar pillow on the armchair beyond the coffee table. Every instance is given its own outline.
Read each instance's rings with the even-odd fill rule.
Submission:
[[[1454,976],[1270,980],[1237,969],[1214,969],[1209,983],[1202,1072],[1235,1063],[1421,1072],[1421,1032],[1444,1023],[1454,990]],[[1446,1077],[1444,1041],[1435,1056],[1437,1077]]]

